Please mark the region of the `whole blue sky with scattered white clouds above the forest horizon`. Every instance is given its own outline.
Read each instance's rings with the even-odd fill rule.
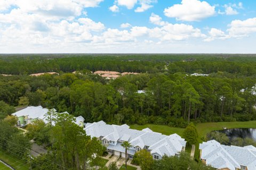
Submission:
[[[0,53],[256,54],[255,45],[255,0],[0,0]]]

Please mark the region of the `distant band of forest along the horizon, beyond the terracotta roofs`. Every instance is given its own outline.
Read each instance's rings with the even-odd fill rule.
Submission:
[[[255,55],[2,55],[0,73],[27,75],[77,70],[158,73],[218,73],[254,77]]]

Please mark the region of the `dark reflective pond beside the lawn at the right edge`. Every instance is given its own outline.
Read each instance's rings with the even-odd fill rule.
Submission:
[[[251,138],[256,141],[256,129],[253,128],[227,129],[218,132],[225,133],[230,141],[235,138]]]

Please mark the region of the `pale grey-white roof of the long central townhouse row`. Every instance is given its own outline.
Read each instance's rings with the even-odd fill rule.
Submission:
[[[151,154],[158,153],[161,156],[165,154],[174,156],[181,151],[182,147],[186,146],[185,139],[178,134],[167,136],[148,128],[138,131],[130,129],[127,125],[109,125],[100,121],[87,123],[84,130],[91,137],[102,137],[102,139],[110,141],[129,141],[133,147],[141,149],[148,146],[151,149]]]

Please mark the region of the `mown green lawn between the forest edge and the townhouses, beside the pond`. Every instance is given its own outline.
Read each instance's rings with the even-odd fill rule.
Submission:
[[[182,128],[171,128],[165,125],[155,125],[155,124],[146,124],[146,125],[130,125],[131,129],[142,130],[145,128],[149,128],[154,132],[159,132],[165,135],[170,135],[173,133],[177,133],[182,137],[182,133],[185,129]],[[223,127],[227,129],[234,129],[234,128],[256,128],[256,121],[249,121],[249,122],[214,122],[214,123],[198,123],[196,125],[196,129],[198,132],[198,143],[196,143],[196,150],[195,150],[195,158],[199,159],[199,143],[202,143],[202,137],[205,137],[208,132],[222,130]],[[191,146],[186,147],[186,152],[190,153]]]

